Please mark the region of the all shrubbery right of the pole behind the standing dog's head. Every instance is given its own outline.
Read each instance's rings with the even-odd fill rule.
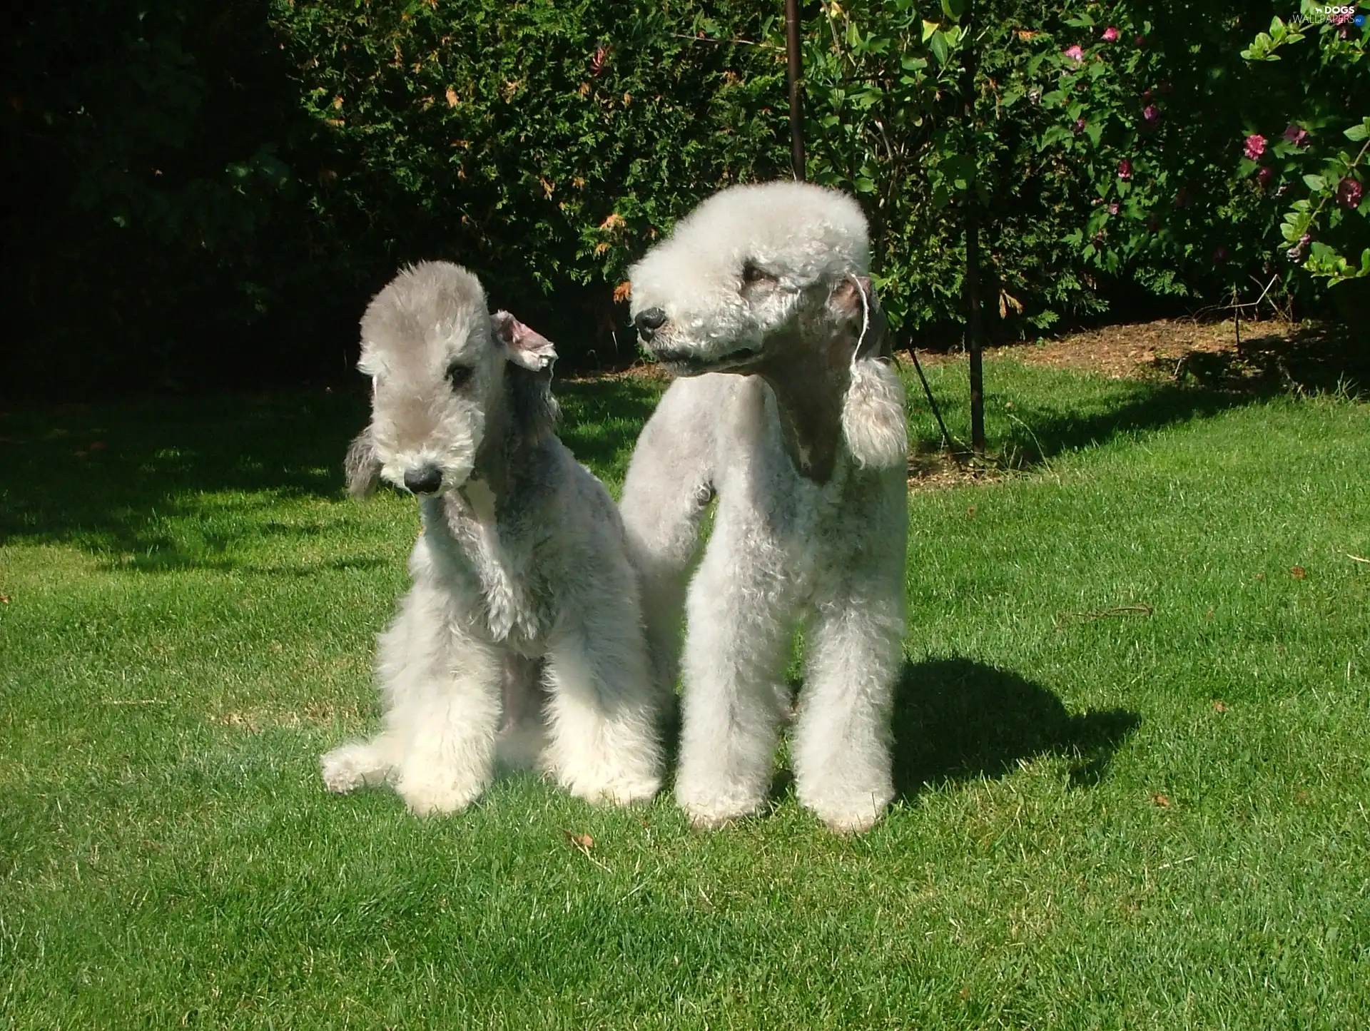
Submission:
[[[1208,298],[1271,279],[1314,293],[1289,245],[1275,246],[1291,225],[1278,201],[1304,174],[1322,177],[1303,212],[1317,226],[1295,256],[1314,272],[1334,262],[1321,237],[1359,211],[1363,155],[1312,166],[1347,112],[1370,110],[1370,77],[1352,67],[1360,27],[1323,31],[1340,63],[1256,67],[1243,51],[1267,4],[982,4],[970,167],[960,16],[960,3],[829,1],[808,33],[810,173],[869,200],[896,323],[959,314],[963,223],[951,201],[971,183],[1003,318],[1041,327],[1096,309],[1108,281]],[[1292,242],[1307,229],[1295,225]]]

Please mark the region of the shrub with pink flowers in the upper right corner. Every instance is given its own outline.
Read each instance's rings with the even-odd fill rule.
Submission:
[[[1304,3],[1296,25],[1311,26],[1318,10]],[[1367,238],[1366,147],[1338,141],[1363,144],[1370,131],[1360,119],[1370,30],[1349,15],[1325,21],[1319,51],[1273,64],[1306,31],[1275,18],[1244,48],[1258,16],[1255,4],[1218,15],[1086,4],[1066,19],[1073,31],[1043,38],[1045,78],[1033,62],[1022,67],[1059,112],[1038,147],[1078,156],[1095,185],[1093,214],[1070,237],[1086,260],[1162,292],[1218,282],[1262,292],[1284,279],[1312,294],[1291,260],[1328,283],[1370,274],[1370,251],[1356,266],[1338,249]]]

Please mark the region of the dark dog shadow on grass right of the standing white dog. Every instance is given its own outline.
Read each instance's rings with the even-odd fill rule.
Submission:
[[[1051,690],[971,659],[906,663],[895,693],[895,789],[997,779],[1021,761],[1060,756],[1070,782],[1099,783],[1141,723],[1126,709],[1067,712]]]

